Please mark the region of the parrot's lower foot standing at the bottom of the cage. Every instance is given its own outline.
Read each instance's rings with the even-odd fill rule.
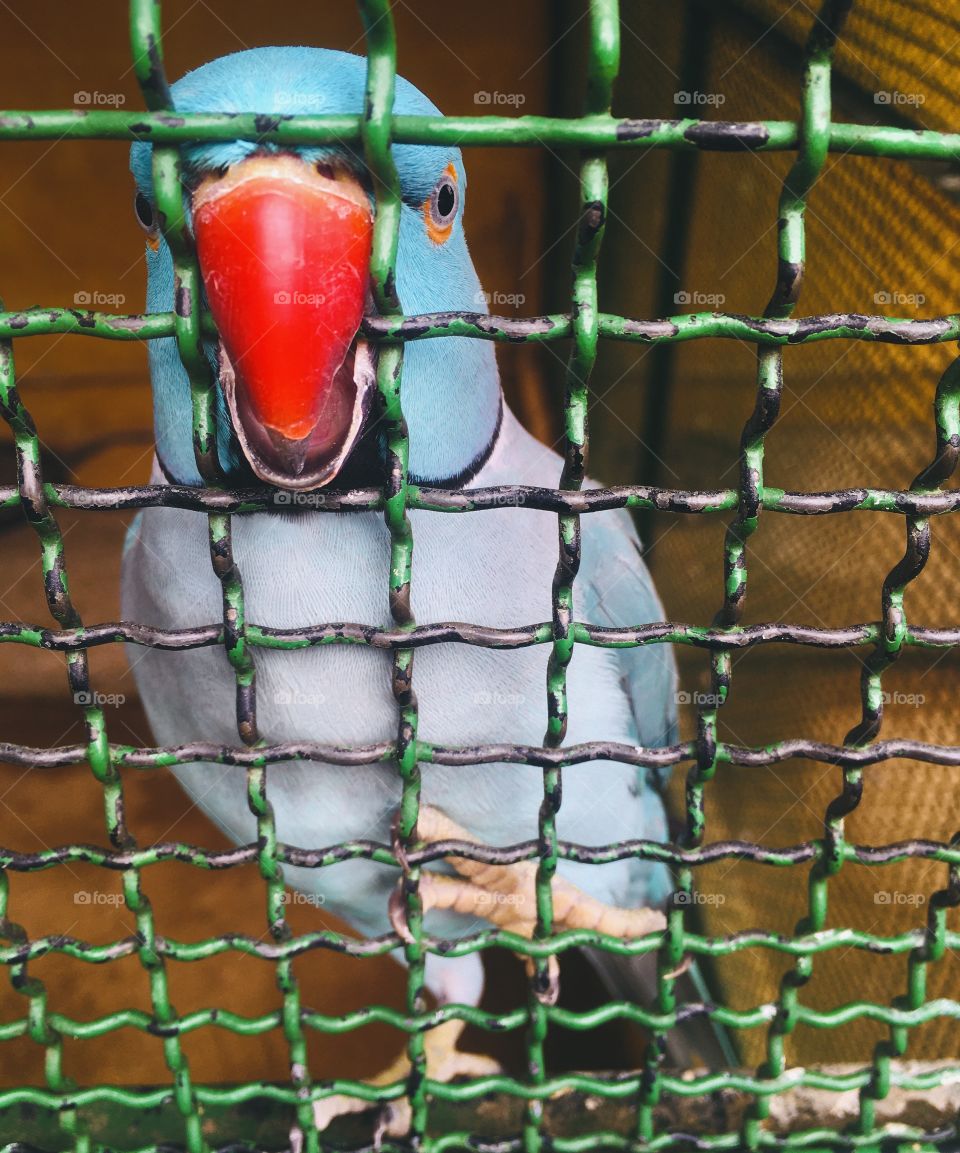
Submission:
[[[458,1048],[458,1041],[466,1027],[466,1022],[447,1020],[431,1028],[424,1037],[424,1055],[426,1057],[426,1076],[431,1080],[451,1082],[456,1077],[493,1077],[502,1072],[499,1062],[479,1053],[464,1053]],[[398,1057],[381,1073],[373,1077],[370,1085],[392,1085],[405,1080],[410,1075],[410,1062],[407,1055]],[[352,1113],[365,1113],[377,1108],[370,1101],[338,1093],[323,1101],[313,1103],[313,1124],[317,1132],[325,1129],[337,1118]],[[384,1137],[406,1137],[410,1131],[411,1111],[406,1097],[396,1098],[379,1107],[377,1128],[373,1132],[373,1146],[378,1148]]]

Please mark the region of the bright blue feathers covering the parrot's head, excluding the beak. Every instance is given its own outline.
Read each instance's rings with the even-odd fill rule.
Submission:
[[[188,73],[173,88],[180,112],[255,112],[289,115],[352,114],[363,111],[366,61],[348,52],[308,47],[249,48],[221,56]],[[408,81],[398,76],[394,111],[439,116],[439,110]],[[362,158],[342,145],[289,146],[228,141],[186,145],[184,168],[202,174],[236,164],[254,151],[296,152],[307,163],[335,157],[362,168]],[[459,149],[396,144],[393,159],[400,178],[403,208],[396,255],[396,292],[403,311],[448,309],[485,312],[479,280],[463,236],[467,187]],[[130,171],[139,190],[152,201],[151,145],[130,150]],[[453,164],[460,188],[460,209],[445,244],[434,244],[424,227],[421,205],[444,168]],[[173,309],[173,259],[166,243],[148,249],[146,307]],[[153,382],[157,449],[167,472],[177,481],[198,484],[190,424],[190,390],[172,338],[149,344]],[[211,364],[213,348],[207,348]],[[229,416],[218,387],[218,449],[227,474],[243,470],[229,436]],[[403,356],[403,412],[410,438],[410,474],[418,480],[454,476],[467,469],[489,444],[497,425],[500,386],[493,347],[483,340],[456,337],[408,344]]]

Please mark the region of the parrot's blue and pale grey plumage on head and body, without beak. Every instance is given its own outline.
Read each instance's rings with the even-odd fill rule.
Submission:
[[[363,106],[364,75],[365,61],[342,52],[257,48],[190,73],[173,86],[173,96],[181,111],[356,113]],[[396,84],[396,111],[439,115],[402,80]],[[346,148],[285,150],[239,141],[203,144],[183,150],[188,210],[191,189],[205,175],[240,171],[252,156],[270,158],[281,152],[293,152],[311,171],[318,165],[323,171],[334,166],[369,188],[362,160]],[[485,311],[463,235],[466,173],[460,152],[395,145],[393,155],[405,202],[396,261],[405,312]],[[150,145],[134,145],[131,168],[150,202]],[[448,179],[456,184],[459,204],[452,224],[443,218],[445,231],[437,234],[430,232],[429,220],[424,227],[424,204],[430,203],[431,190],[445,171],[452,171]],[[448,201],[449,194],[445,195]],[[154,244],[156,250],[148,250],[148,307],[166,311],[173,307],[172,259],[161,239],[154,238]],[[204,270],[205,274],[210,271]],[[210,345],[206,353],[214,371],[219,370],[218,348]],[[189,387],[172,339],[151,342],[150,369],[158,457],[154,481],[198,484]],[[221,377],[220,461],[229,482],[250,483],[226,392]],[[402,399],[410,473],[417,480],[462,483],[466,478],[474,485],[558,483],[559,457],[529,436],[502,405],[491,342],[439,338],[408,344]],[[376,457],[376,430],[368,444]],[[549,619],[557,563],[554,515],[498,507],[471,514],[414,512],[411,521],[413,609],[419,624],[473,620],[517,626]],[[318,513],[290,505],[290,511],[234,518],[233,548],[248,620],[279,628],[332,620],[390,626],[388,545],[383,518],[373,513]],[[602,625],[663,619],[625,512],[584,517],[582,552],[575,585],[577,619]],[[203,515],[151,508],[137,518],[124,558],[123,615],[166,628],[219,619],[221,591],[210,563]],[[338,645],[298,651],[258,649],[255,660],[258,723],[266,741],[364,745],[394,736],[390,654]],[[546,725],[546,646],[497,651],[438,645],[418,650],[415,685],[422,738],[459,746],[539,745]],[[136,649],[131,663],[159,743],[236,743],[234,677],[222,650]],[[569,666],[569,743],[604,739],[658,746],[675,740],[675,672],[670,650],[664,646],[619,650],[577,646]],[[201,763],[175,773],[229,837],[240,843],[255,839],[241,769]],[[285,842],[319,846],[363,837],[388,841],[400,783],[387,764],[341,768],[292,762],[271,768],[269,794]],[[542,796],[542,775],[534,768],[423,767],[423,802],[443,809],[491,844],[512,844],[535,835]],[[642,773],[614,762],[564,771],[558,829],[561,838],[585,845],[633,837],[666,841],[658,793]],[[564,861],[560,873],[594,897],[628,907],[659,905],[671,888],[665,867],[636,860],[604,866]],[[394,869],[358,860],[323,869],[290,868],[287,880],[305,892],[322,895],[326,907],[360,933],[390,930],[387,902],[396,880]],[[475,917],[430,913],[428,927],[460,935],[475,930],[478,922]],[[432,958],[428,984],[443,1000],[476,1003],[482,989],[478,956],[455,963]]]

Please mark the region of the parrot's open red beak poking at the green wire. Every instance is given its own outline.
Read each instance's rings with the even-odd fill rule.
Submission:
[[[252,156],[204,180],[192,211],[243,453],[269,484],[327,484],[375,391],[375,354],[357,339],[370,299],[370,199],[347,172]]]

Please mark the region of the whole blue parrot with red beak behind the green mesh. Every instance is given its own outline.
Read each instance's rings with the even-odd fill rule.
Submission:
[[[172,91],[182,112],[356,114],[364,105],[365,68],[364,59],[345,52],[254,48],[204,65]],[[395,111],[440,115],[402,78],[396,81]],[[184,206],[219,331],[219,340],[205,346],[217,378],[219,462],[228,483],[266,482],[280,495],[274,511],[233,521],[248,620],[273,628],[333,620],[390,627],[390,537],[381,515],[315,512],[298,504],[308,499],[302,493],[338,476],[341,483],[364,477],[377,484],[383,475],[372,404],[376,348],[360,332],[372,307],[370,175],[358,152],[345,145],[233,141],[194,143],[181,151]],[[396,256],[403,311],[486,311],[463,232],[467,175],[460,151],[398,144],[393,157],[403,201]],[[158,227],[150,144],[134,144],[130,166],[136,213],[148,238],[148,309],[171,311],[173,262]],[[174,339],[150,341],[149,359],[152,480],[198,485],[190,389]],[[446,487],[555,487],[561,460],[505,405],[491,342],[439,338],[408,344],[402,390],[411,480]],[[413,610],[419,624],[473,620],[514,627],[549,619],[557,563],[553,514],[500,507],[458,515],[414,511],[410,519]],[[583,518],[582,532],[577,618],[602,626],[663,619],[629,515],[592,513]],[[124,619],[186,628],[221,616],[221,588],[202,514],[142,512],[130,528],[122,580]],[[512,651],[449,643],[421,648],[415,686],[422,738],[456,746],[539,745],[546,660],[543,646]],[[220,648],[131,648],[130,661],[158,741],[236,744],[234,675]],[[265,741],[354,746],[395,734],[388,653],[354,645],[257,649],[255,661]],[[577,647],[568,686],[570,743],[660,746],[676,739],[675,670],[665,646]],[[241,844],[255,841],[243,769],[195,763],[174,773],[228,837]],[[388,841],[400,787],[388,764],[294,760],[272,767],[269,777],[278,835],[303,846]],[[479,842],[528,839],[542,799],[543,779],[535,768],[423,766],[424,811]],[[651,782],[636,768],[614,762],[564,770],[558,830],[561,838],[583,845],[630,837],[667,841],[664,807]],[[443,874],[449,880],[454,871],[431,866],[430,877]],[[506,874],[498,876],[487,884],[502,882]],[[663,865],[635,859],[603,866],[561,861],[559,877],[575,886],[570,891],[583,900],[625,910],[659,910],[672,888]],[[286,880],[322,897],[360,934],[391,930],[395,869],[352,860],[322,869],[292,867]],[[438,899],[428,911],[429,932],[459,936],[496,919],[486,912],[496,903],[482,886],[463,886],[456,902]],[[471,886],[479,898],[473,906]],[[652,957],[641,964],[607,955],[598,964],[621,994],[649,1002]],[[477,1004],[479,955],[431,955],[426,984],[441,1003]],[[460,1031],[449,1031],[443,1058],[439,1045],[430,1050],[432,1076],[487,1070],[486,1058],[456,1049]],[[667,1047],[678,1063],[694,1055],[713,1064],[721,1060],[702,1015],[672,1031]],[[331,1116],[331,1109],[318,1107],[318,1124]]]

